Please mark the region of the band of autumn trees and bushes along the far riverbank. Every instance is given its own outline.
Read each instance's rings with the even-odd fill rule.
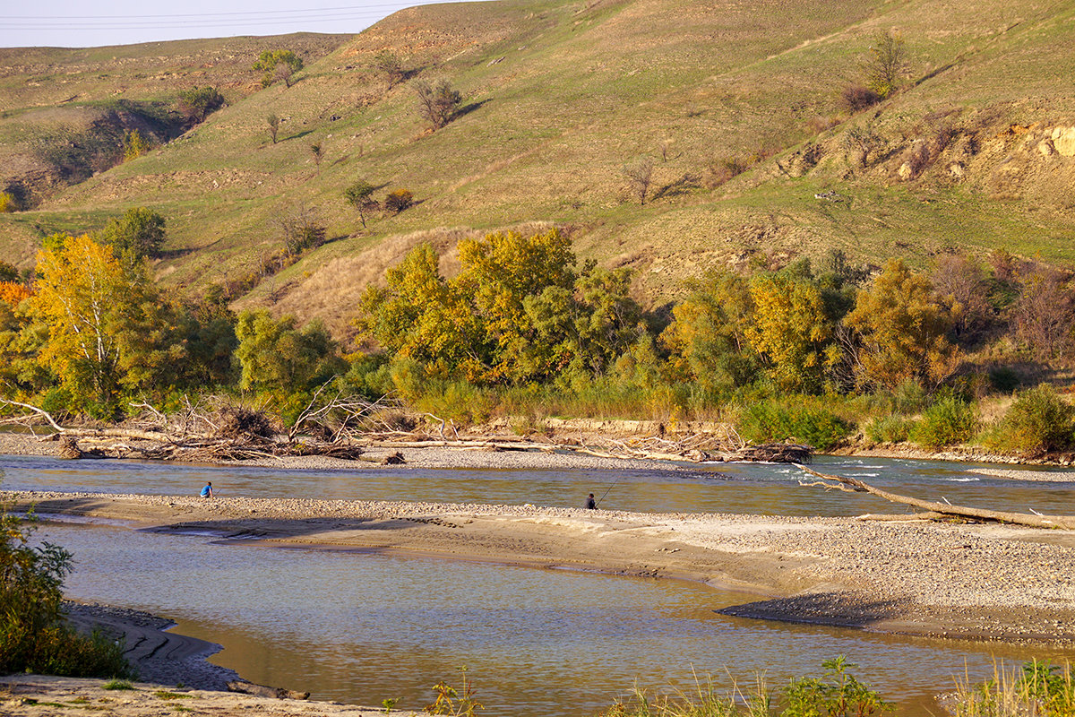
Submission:
[[[353,307],[341,342],[317,322],[236,315],[221,291],[180,299],[113,234],[56,234],[28,281],[8,272],[8,399],[117,420],[135,405],[174,412],[226,396],[295,427],[326,401],[390,396],[412,416],[507,417],[522,433],[568,416],[716,421],[730,440],[821,450],[1043,456],[1075,444],[1062,381],[1075,356],[1072,277],[1003,252],[943,256],[929,273],[831,252],[711,271],[679,301],[645,306],[629,270],[578,262],[559,231],[498,232],[461,240],[452,275],[432,246],[416,247]]]

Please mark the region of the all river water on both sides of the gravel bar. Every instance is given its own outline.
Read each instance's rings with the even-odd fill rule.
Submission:
[[[32,490],[405,499],[577,505],[660,512],[854,515],[891,512],[869,497],[798,485],[780,465],[608,474],[601,471],[362,470],[298,472],[123,461],[0,457],[2,487]],[[965,464],[825,459],[816,467],[952,503],[1070,512],[1072,483],[1017,483]],[[362,704],[399,699],[420,709],[430,686],[468,669],[484,714],[592,715],[633,684],[693,689],[696,675],[746,691],[820,675],[844,655],[901,715],[936,714],[957,676],[985,679],[998,660],[1075,653],[726,617],[755,599],[678,580],[487,565],[360,551],[271,549],[105,522],[49,522],[39,535],[68,547],[70,597],[168,616],[180,632],[219,643],[213,661],[269,685]]]

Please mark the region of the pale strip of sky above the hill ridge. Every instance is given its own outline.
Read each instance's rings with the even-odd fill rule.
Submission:
[[[97,47],[288,32],[359,32],[433,0],[3,0],[0,47]],[[436,0],[444,1],[444,0]]]

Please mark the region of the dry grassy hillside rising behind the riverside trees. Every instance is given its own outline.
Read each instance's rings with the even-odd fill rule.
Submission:
[[[1073,27],[1075,3],[1045,0],[498,0],[411,9],[346,40],[0,53],[0,152],[75,90],[86,106],[120,88],[146,100],[219,84],[230,101],[146,156],[0,215],[0,249],[29,262],[43,234],[146,205],[168,218],[159,275],[197,290],[257,273],[282,244],[276,220],[301,204],[333,241],[241,304],[320,316],[340,332],[366,284],[418,242],[450,270],[459,236],[511,227],[562,227],[582,256],[635,268],[654,301],[712,266],[832,247],[875,263],[995,247],[1067,262]],[[851,113],[841,92],[884,31],[905,41],[903,87]],[[264,47],[305,54],[290,88],[258,88],[247,68]],[[384,49],[411,71],[391,90],[372,69]],[[94,60],[101,53],[124,61]],[[210,56],[231,59],[198,59]],[[61,85],[67,72],[73,85]],[[441,78],[464,112],[432,132],[414,85]],[[275,143],[269,115],[282,120]],[[864,157],[856,137],[869,138]],[[624,168],[646,156],[653,186],[640,205]],[[378,198],[406,188],[417,204],[363,230],[341,198],[357,180]]]

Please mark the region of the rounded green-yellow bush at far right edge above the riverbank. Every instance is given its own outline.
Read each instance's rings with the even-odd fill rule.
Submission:
[[[1048,384],[1019,393],[987,441],[990,448],[1036,455],[1071,447],[1075,406]]]

